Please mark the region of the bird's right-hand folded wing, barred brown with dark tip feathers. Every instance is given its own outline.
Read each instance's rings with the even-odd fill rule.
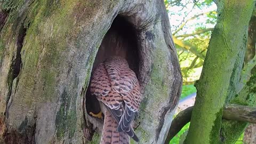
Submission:
[[[134,118],[134,113],[139,109],[141,101],[138,78],[125,63],[120,61],[107,61],[105,67],[111,87],[117,94],[121,95],[121,99],[125,102],[122,117],[117,119],[119,122],[117,131],[127,131]]]

